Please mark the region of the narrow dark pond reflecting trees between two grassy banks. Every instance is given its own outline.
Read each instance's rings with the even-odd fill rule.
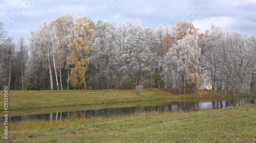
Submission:
[[[69,106],[54,108],[36,108],[9,110],[9,123],[21,121],[57,121],[75,120],[93,117],[117,117],[145,112],[189,112],[208,109],[227,108],[255,104],[256,99],[241,99],[236,104],[232,99],[187,99],[187,100],[156,100],[145,102],[129,102],[115,104],[100,104],[87,106]],[[4,122],[4,118],[0,118]]]

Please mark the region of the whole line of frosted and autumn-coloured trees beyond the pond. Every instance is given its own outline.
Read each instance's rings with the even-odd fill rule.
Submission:
[[[193,23],[144,27],[70,14],[17,44],[0,24],[0,84],[12,90],[174,88],[255,91],[256,38]]]

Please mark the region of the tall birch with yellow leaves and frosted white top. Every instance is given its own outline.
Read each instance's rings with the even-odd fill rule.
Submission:
[[[80,89],[82,83],[86,85],[86,71],[92,52],[93,38],[95,37],[94,23],[86,16],[74,19],[73,35],[69,38],[71,53],[67,57],[68,65],[73,66],[70,72],[71,85]]]

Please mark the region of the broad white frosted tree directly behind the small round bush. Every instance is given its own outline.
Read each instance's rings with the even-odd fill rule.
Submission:
[[[127,50],[123,54],[127,65],[122,67],[126,72],[138,77],[138,84],[143,86],[145,85],[146,74],[150,74],[154,68],[157,55],[151,50],[147,32],[140,21],[131,26],[127,36]]]

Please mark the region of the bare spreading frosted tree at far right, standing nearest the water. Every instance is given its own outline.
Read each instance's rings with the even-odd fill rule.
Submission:
[[[238,100],[241,93],[249,91],[251,74],[256,64],[256,52],[248,36],[239,32],[227,32],[218,48],[221,71],[225,82]]]

